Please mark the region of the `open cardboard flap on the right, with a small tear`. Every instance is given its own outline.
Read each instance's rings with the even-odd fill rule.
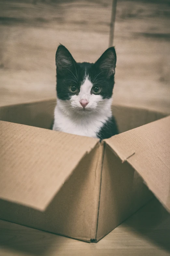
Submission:
[[[170,211],[170,116],[105,140]]]

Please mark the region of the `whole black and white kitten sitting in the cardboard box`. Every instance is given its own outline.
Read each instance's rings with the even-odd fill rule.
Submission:
[[[60,44],[55,60],[57,105],[53,130],[100,140],[118,134],[111,112],[115,48],[108,48],[94,64],[77,63]]]

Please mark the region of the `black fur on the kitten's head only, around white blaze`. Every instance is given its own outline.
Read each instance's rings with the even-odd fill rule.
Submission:
[[[62,53],[61,53],[62,52]],[[112,54],[113,55],[113,61],[114,65],[116,65],[116,52],[114,47],[110,47],[105,51],[105,58],[106,56]],[[62,57],[68,58],[70,60],[70,63],[68,62],[68,65],[62,63]],[[104,59],[104,55],[95,62],[95,63],[89,63],[89,62],[83,62],[83,63],[77,63],[70,52],[67,50],[67,48],[64,47],[64,45],[59,45],[57,52],[56,52],[56,71],[57,71],[57,96],[61,100],[69,100],[72,94],[69,91],[70,85],[75,85],[75,81],[71,80],[70,78],[74,74],[76,76],[76,72],[78,74],[78,83],[76,83],[76,86],[78,89],[80,89],[80,86],[82,84],[82,81],[84,79],[85,71],[88,73],[90,80],[92,81],[95,76],[97,76],[97,79],[99,81],[98,84],[102,87],[102,91],[100,95],[103,97],[103,99],[107,98],[109,99],[112,96],[113,93],[113,87],[114,87],[114,73],[115,70],[112,70],[112,72],[109,69],[106,69],[107,65],[109,63],[103,63],[102,61]],[[109,59],[109,58],[108,58]],[[109,61],[109,60],[108,60]],[[111,62],[110,58],[110,62]],[[101,69],[101,65],[102,69]],[[60,68],[63,67],[64,68]],[[114,66],[115,68],[115,66]],[[67,86],[64,86],[66,84]],[[78,92],[79,93],[79,92]]]

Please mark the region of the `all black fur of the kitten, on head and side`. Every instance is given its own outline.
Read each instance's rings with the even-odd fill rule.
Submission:
[[[87,73],[91,82],[97,76],[96,85],[102,88],[99,94],[103,99],[110,99],[114,87],[115,66],[116,52],[114,47],[108,48],[95,63],[77,63],[67,48],[59,45],[56,52],[57,97],[60,100],[70,100],[73,95],[69,91],[69,86],[71,85],[75,85],[78,88],[78,95],[85,73]],[[78,81],[71,79],[73,76],[76,77],[77,74]],[[101,141],[118,133],[116,120],[112,116],[103,123],[96,137]]]

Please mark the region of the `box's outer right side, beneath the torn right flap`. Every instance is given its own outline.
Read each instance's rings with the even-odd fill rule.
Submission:
[[[153,197],[142,178],[127,162],[121,162],[106,145],[97,240],[116,228]]]

